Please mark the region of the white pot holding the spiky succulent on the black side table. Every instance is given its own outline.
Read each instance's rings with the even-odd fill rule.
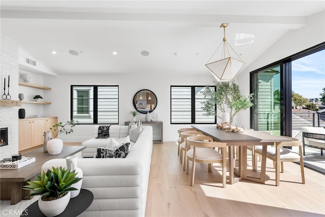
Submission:
[[[40,210],[43,212],[44,215],[48,217],[56,216],[61,214],[64,209],[67,208],[68,203],[70,201],[71,192],[68,192],[63,197],[51,200],[51,201],[44,201],[42,200],[42,196],[39,198],[39,207]]]

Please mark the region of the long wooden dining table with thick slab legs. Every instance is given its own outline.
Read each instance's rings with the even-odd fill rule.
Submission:
[[[229,183],[234,184],[240,180],[248,180],[265,183],[266,170],[261,170],[259,177],[247,175],[247,146],[262,145],[261,168],[266,168],[266,156],[268,145],[278,145],[281,142],[289,142],[290,138],[275,136],[266,132],[238,128],[241,132],[231,132],[218,129],[216,125],[192,125],[192,128],[201,131],[204,135],[212,137],[217,142],[226,143],[228,146],[229,159]],[[234,147],[238,146],[238,171],[235,163]],[[279,154],[279,153],[276,153]],[[276,162],[279,169],[280,164]],[[236,177],[235,177],[236,175]]]

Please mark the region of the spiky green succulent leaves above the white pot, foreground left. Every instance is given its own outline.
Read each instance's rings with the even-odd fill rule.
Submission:
[[[82,178],[76,177],[75,170],[71,171],[62,167],[52,167],[47,172],[42,171],[41,176],[37,175],[35,181],[27,181],[28,185],[23,187],[24,190],[31,190],[29,196],[41,195],[42,200],[49,201],[63,197],[70,191],[77,190],[71,187]]]

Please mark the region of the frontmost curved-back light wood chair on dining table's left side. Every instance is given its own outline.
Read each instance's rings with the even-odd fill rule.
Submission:
[[[190,185],[194,184],[195,165],[196,163],[208,164],[208,171],[212,173],[213,163],[220,163],[222,166],[222,188],[226,184],[226,143],[214,142],[213,138],[205,135],[190,136],[186,138],[187,145],[193,148],[187,150],[187,168],[189,171],[189,161],[192,162]],[[214,148],[221,148],[221,153]]]

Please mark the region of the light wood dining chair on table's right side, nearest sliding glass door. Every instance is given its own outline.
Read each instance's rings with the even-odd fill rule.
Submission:
[[[283,162],[300,162],[300,170],[301,170],[301,179],[302,183],[305,184],[305,172],[304,172],[304,159],[303,159],[303,152],[302,152],[302,142],[299,139],[293,138],[293,137],[286,137],[281,136],[285,138],[290,138],[291,142],[281,142],[280,144],[274,146],[267,147],[267,158],[273,161],[273,167],[275,167],[275,182],[276,186],[280,185],[280,171],[275,166],[276,162],[281,163],[281,173],[283,173]],[[293,151],[289,148],[285,147],[294,147],[298,146],[299,151]],[[276,154],[278,152],[278,154]],[[255,159],[256,154],[262,155],[262,146],[255,146]],[[256,162],[256,161],[255,161]],[[265,171],[266,168],[261,168],[261,170]],[[256,171],[256,170],[255,170]]]

